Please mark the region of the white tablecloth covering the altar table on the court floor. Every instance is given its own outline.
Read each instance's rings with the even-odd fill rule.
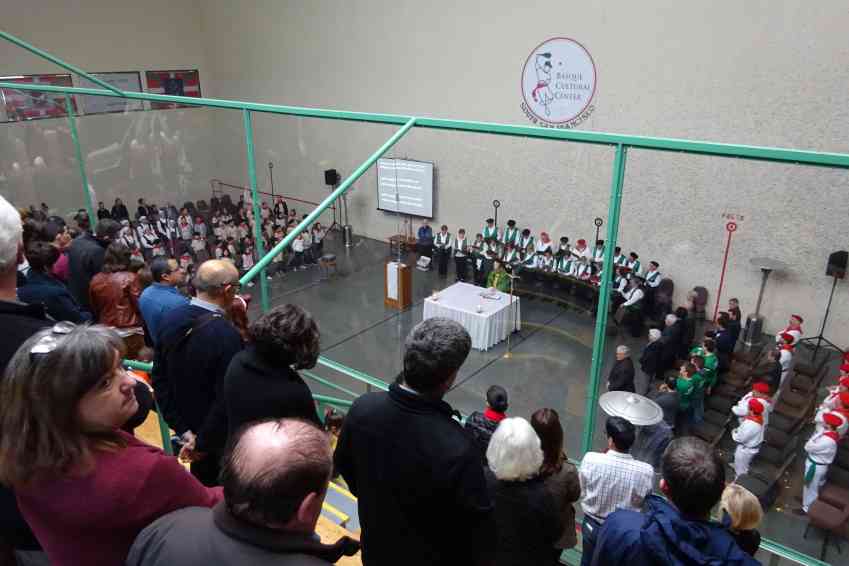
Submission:
[[[489,291],[469,283],[455,283],[440,291],[436,300],[425,299],[423,319],[440,316],[456,320],[472,336],[472,348],[488,350],[506,339],[513,328],[521,330],[522,316],[519,297],[513,296],[511,314],[509,294],[495,291],[497,298],[489,299],[481,296],[483,292]],[[477,312],[478,306],[482,312]]]

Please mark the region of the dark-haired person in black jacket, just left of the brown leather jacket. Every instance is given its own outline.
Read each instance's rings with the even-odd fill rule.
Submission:
[[[103,268],[103,256],[109,243],[118,237],[121,225],[106,218],[97,223],[95,234],[83,232],[68,247],[68,290],[77,303],[91,311],[88,286]]]

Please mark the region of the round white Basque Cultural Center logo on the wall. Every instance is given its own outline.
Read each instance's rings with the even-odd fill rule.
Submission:
[[[522,111],[537,126],[574,128],[595,110],[595,63],[583,45],[566,37],[544,41],[522,69]]]

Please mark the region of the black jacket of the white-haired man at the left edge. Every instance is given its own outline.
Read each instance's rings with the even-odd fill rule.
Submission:
[[[3,339],[0,340],[0,378],[21,344],[52,324],[47,320],[41,305],[0,301],[0,328],[3,329]],[[18,550],[41,550],[18,510],[14,492],[3,485],[0,485],[0,536]]]

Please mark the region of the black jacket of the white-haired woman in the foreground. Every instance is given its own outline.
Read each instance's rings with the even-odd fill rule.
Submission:
[[[487,471],[498,526],[496,566],[556,564],[554,543],[563,520],[543,480],[501,481]]]

